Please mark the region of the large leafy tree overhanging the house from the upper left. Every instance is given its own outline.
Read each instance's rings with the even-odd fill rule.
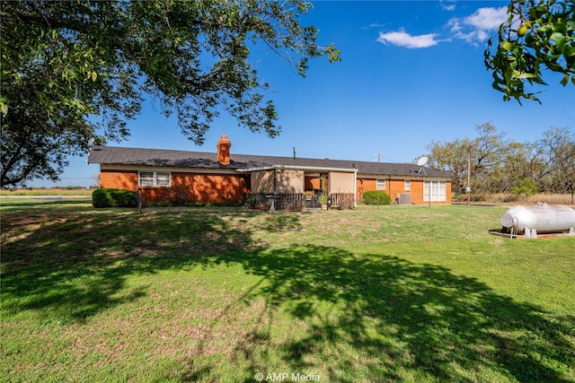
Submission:
[[[0,3],[2,187],[57,179],[66,156],[129,135],[144,98],[175,114],[202,144],[221,110],[252,132],[278,135],[251,48],[264,44],[305,76],[340,59],[318,45],[302,0],[18,1]]]

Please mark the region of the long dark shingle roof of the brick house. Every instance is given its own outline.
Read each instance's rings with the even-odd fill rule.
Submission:
[[[216,152],[187,152],[164,149],[125,148],[116,146],[94,146],[88,156],[88,163],[119,164],[135,166],[164,166],[175,168],[208,168],[247,170],[271,166],[300,167],[302,169],[347,169],[358,170],[359,175],[376,176],[424,176],[420,166],[414,163],[389,163],[349,160],[320,160],[313,158],[276,157],[249,154],[231,155],[230,165],[217,162]],[[451,178],[440,170],[425,168],[428,177]]]

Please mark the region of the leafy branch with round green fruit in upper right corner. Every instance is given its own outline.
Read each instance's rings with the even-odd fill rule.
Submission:
[[[503,92],[503,99],[539,101],[536,93],[526,91],[526,84],[546,84],[545,69],[563,74],[563,86],[575,85],[575,2],[511,0],[508,14],[495,51],[492,38],[485,50],[492,86]]]

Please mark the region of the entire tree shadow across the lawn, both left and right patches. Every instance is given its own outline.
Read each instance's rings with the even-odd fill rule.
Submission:
[[[438,265],[335,247],[269,248],[253,231],[298,231],[298,215],[256,214],[257,226],[249,213],[232,223],[193,209],[6,214],[3,312],[83,323],[145,296],[145,287],[126,288],[131,275],[241,265],[260,282],[238,300],[263,301],[230,344],[229,362],[242,366],[245,381],[275,365],[341,382],[575,377],[573,316],[553,316]],[[296,335],[278,336],[284,325],[298,326]],[[188,364],[182,381],[216,380],[212,366]]]

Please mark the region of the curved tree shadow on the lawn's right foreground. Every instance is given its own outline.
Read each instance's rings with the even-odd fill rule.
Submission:
[[[280,308],[305,328],[273,346],[292,371],[341,382],[574,377],[575,317],[550,318],[445,267],[316,246],[258,250],[239,262],[268,282],[252,292],[267,316]],[[273,337],[265,332],[252,335]],[[241,353],[250,373],[269,370],[266,347]]]

